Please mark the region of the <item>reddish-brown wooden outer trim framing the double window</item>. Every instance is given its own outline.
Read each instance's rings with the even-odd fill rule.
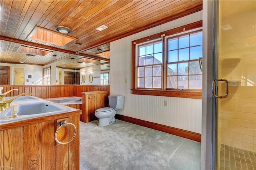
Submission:
[[[154,40],[163,36],[170,36],[178,34],[184,31],[193,30],[202,27],[202,20],[180,26],[172,30],[160,32],[152,36],[144,37],[138,40],[132,41],[132,94],[134,95],[154,95],[154,96],[166,96],[166,97],[184,97],[192,99],[202,99],[202,91],[180,91],[180,90],[151,90],[151,89],[136,89],[136,44],[147,42],[148,40]],[[164,64],[165,65],[165,64]],[[163,65],[163,67],[165,67]]]

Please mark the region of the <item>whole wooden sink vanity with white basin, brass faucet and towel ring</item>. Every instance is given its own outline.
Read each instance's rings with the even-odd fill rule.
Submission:
[[[79,169],[81,110],[30,95],[0,102],[1,167]]]

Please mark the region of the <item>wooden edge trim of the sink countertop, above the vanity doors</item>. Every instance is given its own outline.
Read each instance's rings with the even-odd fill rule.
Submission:
[[[82,111],[79,110],[79,109],[76,109],[76,111],[70,111],[70,112],[66,112],[66,113],[59,113],[59,114],[56,114],[56,115],[48,115],[48,116],[44,116],[44,117],[35,117],[35,118],[32,118],[32,119],[26,119],[24,121],[6,123],[6,124],[3,124],[3,125],[0,124],[0,131],[7,130],[7,129],[10,129],[10,128],[23,127],[23,126],[26,126],[26,125],[32,125],[32,124],[35,124],[35,123],[51,121],[51,120],[55,120],[55,119],[62,119],[62,118],[65,118],[65,117],[81,115],[81,114],[82,114]]]

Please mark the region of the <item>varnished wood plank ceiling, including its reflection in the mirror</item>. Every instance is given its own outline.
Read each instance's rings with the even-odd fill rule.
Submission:
[[[114,40],[202,10],[202,0],[1,0],[0,3],[0,62],[25,61],[35,65],[56,62],[57,67],[65,65],[70,69],[86,66],[74,62],[82,57],[108,62],[110,59],[99,55],[97,49],[109,51],[109,43]],[[108,28],[96,30],[102,25]],[[37,28],[57,33],[56,26],[70,28],[72,32],[63,35],[74,40],[63,46],[32,40]],[[20,52],[22,47],[50,53],[27,56]]]

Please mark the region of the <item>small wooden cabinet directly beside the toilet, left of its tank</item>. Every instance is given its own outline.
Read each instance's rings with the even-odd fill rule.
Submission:
[[[83,113],[80,115],[80,121],[88,123],[98,119],[95,117],[94,113],[99,108],[108,107],[108,95],[109,91],[82,92]]]

